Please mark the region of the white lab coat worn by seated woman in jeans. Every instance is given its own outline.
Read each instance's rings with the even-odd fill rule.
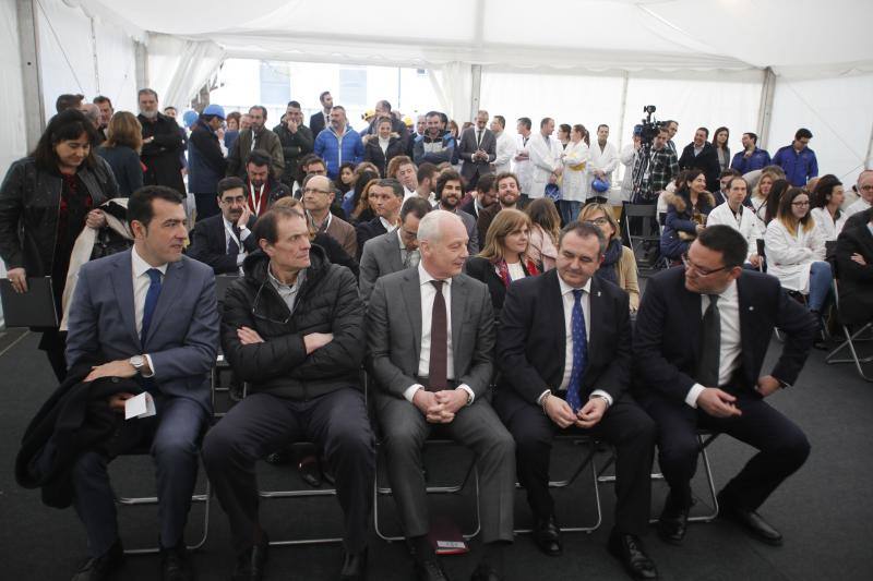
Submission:
[[[810,292],[810,267],[825,259],[825,241],[817,228],[804,231],[798,225],[798,233],[791,234],[779,219],[767,225],[764,235],[767,252],[767,274],[791,291]]]

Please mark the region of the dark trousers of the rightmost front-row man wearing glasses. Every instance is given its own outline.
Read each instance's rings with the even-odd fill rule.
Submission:
[[[658,460],[672,501],[691,503],[691,479],[697,470],[698,427],[723,432],[756,448],[756,453],[721,491],[725,503],[755,510],[793,474],[810,455],[803,432],[757,394],[732,391],[742,415],[713,417],[685,402],[650,395],[641,401],[658,425]]]

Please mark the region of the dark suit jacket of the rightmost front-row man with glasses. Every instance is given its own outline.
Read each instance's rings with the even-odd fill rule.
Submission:
[[[817,325],[812,314],[769,275],[743,270],[737,292],[743,349],[733,386],[754,391],[775,327],[784,331],[786,340],[770,375],[793,384],[815,337]],[[701,295],[685,289],[684,268],[671,268],[648,279],[636,315],[633,348],[634,390],[641,399],[659,394],[684,404],[697,383],[694,375],[702,327]]]

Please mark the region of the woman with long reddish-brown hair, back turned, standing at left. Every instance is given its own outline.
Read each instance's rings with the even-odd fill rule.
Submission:
[[[136,116],[118,111],[109,120],[106,141],[97,148],[97,155],[109,164],[118,183],[118,195],[130,195],[143,186],[143,166],[140,150],[143,147],[143,126]]]

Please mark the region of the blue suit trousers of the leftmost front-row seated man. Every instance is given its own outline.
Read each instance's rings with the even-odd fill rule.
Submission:
[[[160,545],[172,547],[183,541],[191,495],[198,475],[198,441],[206,421],[206,410],[194,400],[178,397],[158,397],[157,415],[142,420],[128,420],[121,424],[115,438],[125,439],[122,433],[141,429],[140,441],[128,441],[128,450],[113,448],[113,453],[142,449],[151,441],[151,455],[157,467],[158,517]],[[134,426],[130,422],[146,422]],[[140,437],[140,436],[137,436]],[[73,506],[85,524],[88,552],[98,557],[109,550],[118,538],[116,503],[109,485],[107,464],[111,458],[95,451],[85,452],[72,470]]]

